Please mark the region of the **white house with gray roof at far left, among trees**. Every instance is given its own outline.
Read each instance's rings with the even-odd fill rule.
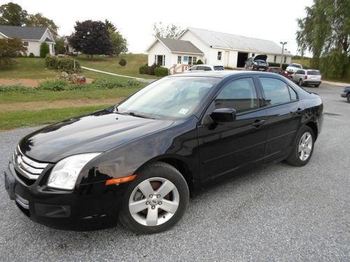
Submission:
[[[48,43],[50,54],[55,54],[55,40],[47,27],[15,27],[0,25],[0,38],[20,38],[27,47],[27,54],[40,55],[40,45]]]

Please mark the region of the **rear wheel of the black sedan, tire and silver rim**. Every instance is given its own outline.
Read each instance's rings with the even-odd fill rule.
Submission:
[[[309,126],[302,126],[297,132],[292,151],[286,161],[292,166],[306,165],[314,152],[314,144],[314,131]]]

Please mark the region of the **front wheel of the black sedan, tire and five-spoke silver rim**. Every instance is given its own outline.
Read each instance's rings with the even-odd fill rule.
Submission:
[[[188,185],[179,170],[167,163],[152,163],[130,183],[119,221],[137,235],[166,231],[183,217],[189,196]]]

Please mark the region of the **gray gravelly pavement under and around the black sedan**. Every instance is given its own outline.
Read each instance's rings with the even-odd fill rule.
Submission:
[[[57,231],[31,222],[0,180],[0,261],[350,261],[350,103],[321,85],[323,132],[302,168],[278,163],[191,199],[172,230]],[[0,171],[20,137],[0,133]]]

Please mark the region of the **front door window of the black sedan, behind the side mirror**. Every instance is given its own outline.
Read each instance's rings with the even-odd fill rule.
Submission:
[[[258,96],[252,78],[242,78],[226,84],[214,100],[215,108],[233,108],[246,112],[258,108]]]

